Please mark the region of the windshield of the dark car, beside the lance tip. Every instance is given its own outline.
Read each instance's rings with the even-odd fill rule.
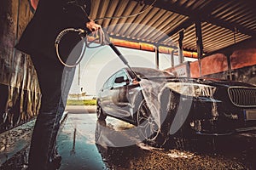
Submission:
[[[140,67],[133,67],[138,77],[141,78],[148,78],[148,77],[174,77],[174,75],[167,71],[160,71],[151,68],[140,68]],[[131,77],[133,78],[134,75],[132,74],[131,70],[127,69]]]

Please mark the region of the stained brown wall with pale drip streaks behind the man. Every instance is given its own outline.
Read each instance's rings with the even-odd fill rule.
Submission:
[[[0,132],[37,116],[40,88],[30,56],[15,50],[32,11],[28,0],[0,2]]]

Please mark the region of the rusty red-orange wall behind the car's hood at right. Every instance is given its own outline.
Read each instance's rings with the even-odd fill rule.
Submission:
[[[256,85],[256,40],[207,56],[201,60],[202,77],[231,79]],[[230,57],[230,70],[229,60]],[[190,63],[191,77],[200,77],[198,61]]]

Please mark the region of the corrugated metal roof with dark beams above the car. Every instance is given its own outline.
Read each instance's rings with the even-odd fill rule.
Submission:
[[[144,3],[142,3],[144,2]],[[184,31],[184,50],[196,51],[195,21],[201,20],[204,53],[212,53],[256,35],[253,0],[94,0],[91,19],[99,20],[111,37],[173,47]]]

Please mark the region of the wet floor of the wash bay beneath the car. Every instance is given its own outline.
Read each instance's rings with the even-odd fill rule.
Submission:
[[[126,133],[114,138],[114,132],[132,129],[133,126],[111,117],[106,122],[97,122],[93,107],[90,111],[76,107],[68,108],[68,111],[57,139],[57,149],[62,156],[61,170],[256,169],[256,133],[214,140],[199,138],[188,144],[176,139],[159,149],[137,142]],[[108,135],[106,129],[114,135]],[[121,146],[116,141],[130,143],[115,147]],[[9,169],[8,165],[15,162],[20,164],[26,160],[24,155],[27,151],[15,156],[2,169]],[[11,167],[20,169],[20,166]]]

